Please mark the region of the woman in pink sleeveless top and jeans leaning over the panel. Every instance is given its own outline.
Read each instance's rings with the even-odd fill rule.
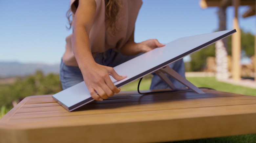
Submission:
[[[73,33],[66,38],[62,57],[63,89],[84,81],[92,98],[107,99],[120,91],[109,75],[117,81],[126,78],[112,67],[139,53],[164,46],[155,39],[134,42],[135,21],[141,4],[141,0],[71,0]],[[182,60],[173,66],[179,73],[184,71]],[[153,77],[151,88],[159,88],[159,84],[163,84],[160,78]]]

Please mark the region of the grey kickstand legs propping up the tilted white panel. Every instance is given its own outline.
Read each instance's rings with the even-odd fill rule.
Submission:
[[[189,89],[191,89],[192,91],[196,92],[196,93],[199,93],[199,94],[204,94],[204,92],[199,89],[198,87],[196,87],[195,85],[193,85],[191,82],[189,82],[188,80],[186,80],[183,76],[181,76],[178,72],[174,71],[172,68],[166,66],[162,69],[159,69],[157,72],[155,71],[155,73],[157,75],[160,75],[160,78],[165,82],[167,83],[167,85],[169,85],[169,82],[171,82],[167,76],[164,75],[164,73],[170,75],[172,78],[174,78],[175,80],[179,81],[181,84],[183,84],[184,86],[188,87]],[[163,76],[163,75],[164,76]],[[170,86],[170,85],[169,85]],[[172,83],[171,83],[171,86],[174,86]],[[171,87],[170,86],[170,87]],[[172,87],[171,87],[172,88]],[[173,89],[173,88],[172,88]],[[174,86],[174,89],[176,89],[176,87]]]

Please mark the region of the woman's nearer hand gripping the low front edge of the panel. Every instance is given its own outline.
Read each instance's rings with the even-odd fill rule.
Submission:
[[[102,66],[97,63],[86,66],[84,69],[80,68],[80,70],[92,98],[97,101],[107,99],[120,91],[120,88],[113,84],[109,75],[117,81],[126,78],[126,76],[118,75],[112,67]]]

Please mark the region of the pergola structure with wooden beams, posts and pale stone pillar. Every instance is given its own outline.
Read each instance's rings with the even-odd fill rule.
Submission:
[[[239,6],[248,6],[248,10],[243,14],[243,17],[249,17],[255,15],[256,0],[200,0],[201,8],[208,7],[218,7],[219,8],[219,31],[226,30],[226,16],[225,10],[227,7],[234,7],[234,18],[233,18],[233,28],[237,30],[235,34],[232,35],[232,78],[234,81],[239,81],[241,79],[241,30],[239,27],[238,20],[238,8]],[[255,26],[256,27],[256,26]],[[254,51],[256,51],[256,35],[255,35],[255,45]],[[226,63],[226,43],[224,41],[218,41],[216,43],[216,78],[224,79],[226,78],[225,71],[227,67]],[[256,58],[256,52],[254,52],[254,57]],[[218,55],[221,54],[221,55]],[[219,71],[218,71],[219,69]],[[256,62],[254,63],[254,79],[256,79]],[[255,80],[256,81],[256,80]]]

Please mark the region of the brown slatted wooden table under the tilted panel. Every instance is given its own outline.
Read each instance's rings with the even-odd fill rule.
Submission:
[[[256,97],[122,92],[68,112],[51,95],[26,97],[0,120],[0,142],[165,142],[256,133]]]

